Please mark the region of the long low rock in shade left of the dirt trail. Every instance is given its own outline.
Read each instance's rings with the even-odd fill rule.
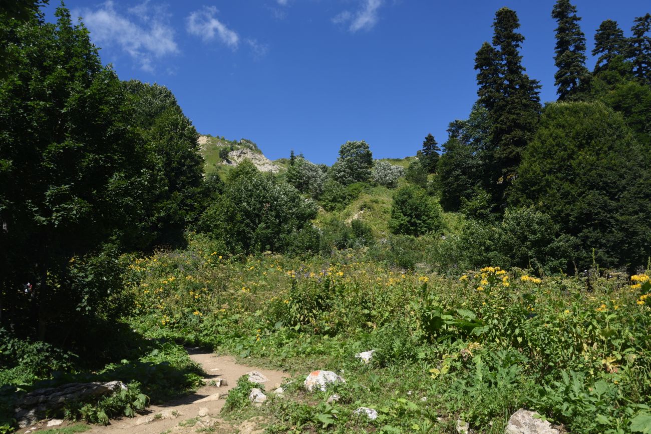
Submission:
[[[42,388],[25,394],[16,402],[14,416],[24,428],[46,416],[48,411],[61,409],[66,403],[110,395],[126,386],[121,381],[108,383],[68,383],[59,387]]]

